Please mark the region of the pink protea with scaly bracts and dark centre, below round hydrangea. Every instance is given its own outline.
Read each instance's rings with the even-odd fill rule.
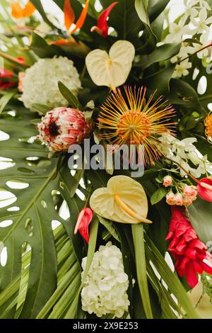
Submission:
[[[65,151],[70,145],[81,144],[90,136],[91,123],[86,123],[82,111],[74,108],[54,108],[37,125],[38,138],[53,152]]]

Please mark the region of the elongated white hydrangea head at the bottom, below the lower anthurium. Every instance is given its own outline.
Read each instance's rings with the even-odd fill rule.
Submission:
[[[86,258],[82,267],[86,268]],[[83,276],[83,273],[82,273]],[[129,299],[126,290],[129,280],[124,273],[122,253],[112,242],[100,246],[93,256],[86,281],[81,292],[83,310],[98,317],[112,314],[122,317],[128,310]]]

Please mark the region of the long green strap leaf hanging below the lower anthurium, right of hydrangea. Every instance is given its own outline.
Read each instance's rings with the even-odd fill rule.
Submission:
[[[143,302],[143,309],[148,319],[153,319],[153,313],[151,310],[151,301],[148,293],[148,282],[146,275],[146,256],[143,239],[143,223],[131,226],[132,235],[134,239],[134,247],[136,254],[136,271],[139,283],[139,289],[141,293],[141,299]]]

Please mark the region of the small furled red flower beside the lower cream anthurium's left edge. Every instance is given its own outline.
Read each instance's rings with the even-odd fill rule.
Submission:
[[[88,226],[90,225],[92,219],[93,219],[93,210],[91,210],[90,208],[83,208],[78,215],[76,227],[74,230],[75,234],[78,230],[81,236],[84,239],[86,239],[87,243],[89,242]]]

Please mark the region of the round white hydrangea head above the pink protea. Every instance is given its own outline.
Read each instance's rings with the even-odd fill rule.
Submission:
[[[26,108],[32,109],[33,103],[40,103],[56,108],[68,106],[61,95],[58,81],[62,81],[76,95],[81,88],[81,81],[72,60],[67,57],[40,59],[25,71],[23,77],[22,100]]]

